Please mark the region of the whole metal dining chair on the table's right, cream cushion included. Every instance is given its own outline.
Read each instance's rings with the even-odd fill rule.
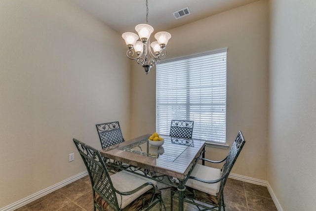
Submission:
[[[200,158],[207,162],[216,164],[224,162],[224,164],[222,169],[197,164],[185,184],[184,202],[211,211],[221,211],[223,207],[225,211],[223,194],[225,184],[244,144],[245,139],[241,131],[238,131],[237,137],[226,158],[221,161]],[[175,188],[171,188],[171,210],[173,198],[179,198],[178,190]]]

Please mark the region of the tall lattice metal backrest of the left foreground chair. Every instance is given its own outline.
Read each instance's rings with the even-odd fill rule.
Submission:
[[[93,199],[97,193],[113,210],[119,210],[116,192],[100,152],[76,138],[73,140],[89,173]]]

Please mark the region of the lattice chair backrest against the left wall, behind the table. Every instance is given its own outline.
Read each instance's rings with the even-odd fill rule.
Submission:
[[[95,125],[99,134],[102,149],[124,142],[118,122]]]

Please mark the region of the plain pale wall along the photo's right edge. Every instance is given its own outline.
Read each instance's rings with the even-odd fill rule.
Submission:
[[[315,211],[316,1],[270,3],[268,181],[284,211]]]

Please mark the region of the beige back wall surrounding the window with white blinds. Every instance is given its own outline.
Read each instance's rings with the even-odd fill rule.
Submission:
[[[227,143],[232,144],[238,130],[246,139],[232,172],[267,180],[267,1],[257,1],[169,32],[172,38],[167,46],[168,59],[228,47]],[[133,66],[131,135],[134,137],[155,131],[155,80],[155,69],[146,76],[141,66]],[[224,158],[227,153],[228,150],[207,149],[207,157],[212,159]]]

